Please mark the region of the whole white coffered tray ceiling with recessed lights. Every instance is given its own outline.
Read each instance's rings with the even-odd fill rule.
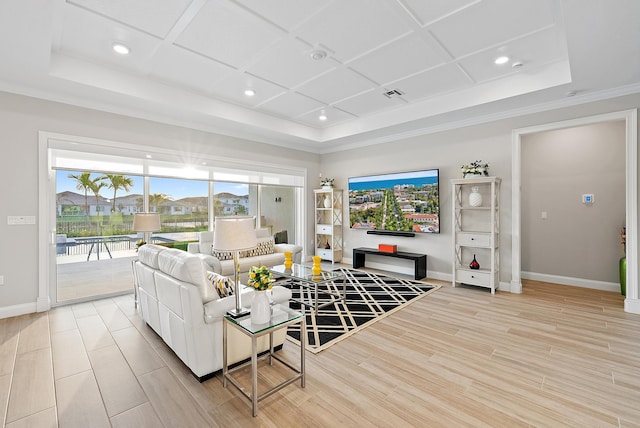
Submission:
[[[323,153],[639,92],[639,18],[637,0],[3,0],[0,90]]]

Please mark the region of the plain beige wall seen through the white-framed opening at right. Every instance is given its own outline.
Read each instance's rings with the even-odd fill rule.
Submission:
[[[521,174],[522,270],[619,288],[624,121],[523,136]],[[593,204],[582,203],[585,193],[594,194]]]

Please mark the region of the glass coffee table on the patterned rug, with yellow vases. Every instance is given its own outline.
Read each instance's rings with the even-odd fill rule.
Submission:
[[[300,299],[291,299],[294,302],[301,305],[310,307],[314,312],[327,305],[331,305],[336,300],[329,300],[322,304],[318,304],[318,294],[333,296],[338,301],[344,301],[347,297],[347,277],[341,271],[334,270],[322,270],[320,274],[314,275],[311,266],[305,266],[294,263],[290,268],[285,268],[284,265],[277,265],[269,269],[271,273],[277,276],[281,276],[290,280],[290,284],[284,284],[283,286],[300,286],[309,289],[313,294],[313,297],[304,299],[302,293],[300,293]],[[329,282],[342,280],[342,293],[339,290],[332,291],[328,287]],[[336,287],[337,288],[337,287]]]

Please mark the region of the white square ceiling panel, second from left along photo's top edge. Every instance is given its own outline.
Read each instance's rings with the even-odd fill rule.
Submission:
[[[245,67],[283,33],[277,27],[222,1],[207,2],[176,44],[233,67]]]

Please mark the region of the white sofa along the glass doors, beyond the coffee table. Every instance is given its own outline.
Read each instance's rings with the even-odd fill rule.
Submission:
[[[213,232],[199,232],[198,242],[191,242],[187,246],[187,251],[193,254],[206,254],[212,256],[207,258],[211,265],[211,270],[224,276],[233,276],[233,259],[230,254],[220,255],[213,250]],[[302,260],[302,247],[293,244],[275,244],[273,237],[269,234],[269,229],[256,229],[256,239],[261,247],[257,251],[258,255],[243,256],[240,254],[240,282],[246,282],[246,274],[251,266],[276,266],[284,263],[284,252],[291,251],[294,263]],[[219,256],[219,257],[216,257]]]

